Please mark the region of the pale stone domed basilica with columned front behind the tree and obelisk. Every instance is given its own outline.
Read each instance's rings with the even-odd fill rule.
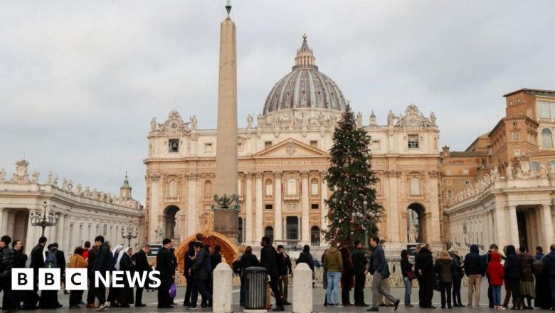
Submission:
[[[240,105],[240,104],[239,104]],[[304,36],[295,65],[270,88],[263,111],[246,117],[238,129],[238,195],[240,243],[258,243],[263,235],[275,242],[324,245],[324,176],[334,127],[347,107],[342,91],[319,71]],[[216,109],[216,104],[214,104]],[[389,112],[379,124],[371,112],[356,119],[371,135],[372,169],[377,202],[384,207],[379,222],[386,248],[427,241],[440,246],[439,129],[433,112],[424,116],[416,105],[400,115]],[[185,113],[186,112],[182,112]],[[256,122],[254,121],[256,118]],[[183,240],[211,229],[216,173],[215,129],[202,129],[196,117],[185,121],[176,110],[148,134],[147,196],[144,240],[160,234]]]

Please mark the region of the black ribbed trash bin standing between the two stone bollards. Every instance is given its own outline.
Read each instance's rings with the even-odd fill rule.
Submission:
[[[245,268],[245,309],[266,309],[266,269]]]

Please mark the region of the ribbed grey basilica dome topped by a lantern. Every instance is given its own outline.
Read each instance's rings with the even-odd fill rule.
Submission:
[[[291,73],[280,79],[270,91],[263,115],[280,110],[327,109],[344,112],[346,101],[337,84],[314,65],[306,34],[297,51]]]

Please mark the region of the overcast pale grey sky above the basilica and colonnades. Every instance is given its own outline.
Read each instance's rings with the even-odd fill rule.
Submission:
[[[25,158],[144,203],[147,133],[179,110],[215,128],[225,1],[1,1],[0,168]],[[258,115],[307,33],[316,64],[379,124],[434,111],[464,150],[507,92],[555,89],[555,1],[233,1],[238,124]]]

